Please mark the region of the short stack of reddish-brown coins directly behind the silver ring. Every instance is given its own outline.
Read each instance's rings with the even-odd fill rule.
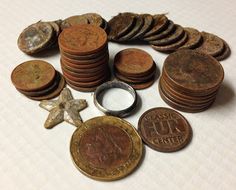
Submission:
[[[144,89],[154,83],[156,64],[147,52],[128,48],[116,54],[114,72],[117,79],[130,84],[134,89]]]

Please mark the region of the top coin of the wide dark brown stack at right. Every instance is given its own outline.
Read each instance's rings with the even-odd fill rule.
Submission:
[[[224,70],[216,59],[194,50],[170,54],[164,62],[163,72],[176,86],[190,92],[212,91],[224,78]]]

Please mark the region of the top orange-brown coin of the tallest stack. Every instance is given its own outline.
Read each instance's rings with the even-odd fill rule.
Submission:
[[[60,48],[73,55],[88,55],[103,49],[107,34],[100,27],[81,24],[63,30],[59,36]]]

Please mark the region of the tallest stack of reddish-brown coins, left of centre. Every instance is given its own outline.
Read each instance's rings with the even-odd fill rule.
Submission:
[[[75,90],[90,92],[109,80],[107,34],[88,24],[71,26],[59,36],[61,68],[66,82]]]

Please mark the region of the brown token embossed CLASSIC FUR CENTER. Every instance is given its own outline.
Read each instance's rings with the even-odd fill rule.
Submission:
[[[192,138],[192,129],[180,113],[163,107],[147,110],[138,122],[138,132],[151,148],[175,152],[184,148]]]

